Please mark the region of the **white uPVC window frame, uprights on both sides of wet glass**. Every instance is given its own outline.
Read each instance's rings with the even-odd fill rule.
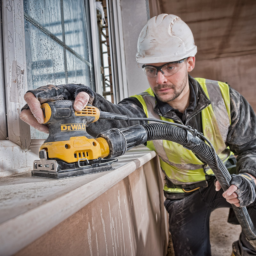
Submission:
[[[1,33],[0,42],[1,44],[3,43],[1,47],[3,51],[0,53],[2,60],[0,81],[2,82],[2,88],[5,88],[5,95],[4,90],[1,90],[0,105],[6,106],[6,113],[3,112],[0,116],[1,130],[4,131],[4,135],[2,138],[0,137],[2,139],[0,140],[0,154],[3,160],[3,164],[0,165],[0,177],[4,177],[31,170],[33,161],[38,158],[38,150],[43,140],[31,140],[29,125],[19,118],[20,110],[26,103],[23,100],[23,95],[28,90],[23,0],[3,0],[1,6],[3,15],[3,38],[1,38]],[[128,97],[122,12],[120,0],[109,0],[108,6],[108,15],[111,20],[110,28],[112,29],[110,32],[110,40],[112,46],[114,46],[112,47],[112,56],[116,56],[116,58],[111,58],[114,74],[113,84],[118,84],[118,86],[113,87],[116,103]],[[97,34],[95,0],[89,0],[89,7],[95,88],[96,92],[101,94],[100,53],[98,51],[99,37]],[[115,40],[112,38],[115,38]],[[5,139],[4,137],[7,136],[7,130],[8,138]]]

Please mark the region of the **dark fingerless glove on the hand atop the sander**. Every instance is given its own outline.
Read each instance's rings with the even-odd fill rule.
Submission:
[[[53,100],[75,100],[79,92],[88,93],[90,96],[88,104],[92,104],[95,95],[92,89],[84,84],[61,84],[58,86],[48,84],[28,92],[32,92],[41,104]],[[28,104],[21,110],[23,109],[28,109]]]

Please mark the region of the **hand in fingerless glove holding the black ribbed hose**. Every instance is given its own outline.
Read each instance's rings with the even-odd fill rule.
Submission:
[[[228,203],[237,207],[244,207],[255,200],[254,178],[248,173],[231,175],[230,187],[222,194]],[[216,191],[220,190],[220,183],[216,181]]]

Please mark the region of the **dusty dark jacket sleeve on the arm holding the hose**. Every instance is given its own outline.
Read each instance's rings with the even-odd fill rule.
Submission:
[[[237,155],[237,171],[256,177],[256,116],[247,100],[230,88],[231,125],[227,143]]]

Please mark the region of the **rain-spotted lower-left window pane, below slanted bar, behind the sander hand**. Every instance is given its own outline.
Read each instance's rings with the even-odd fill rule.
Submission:
[[[46,84],[65,84],[63,47],[25,20],[28,90]],[[31,128],[31,139],[47,135]]]

